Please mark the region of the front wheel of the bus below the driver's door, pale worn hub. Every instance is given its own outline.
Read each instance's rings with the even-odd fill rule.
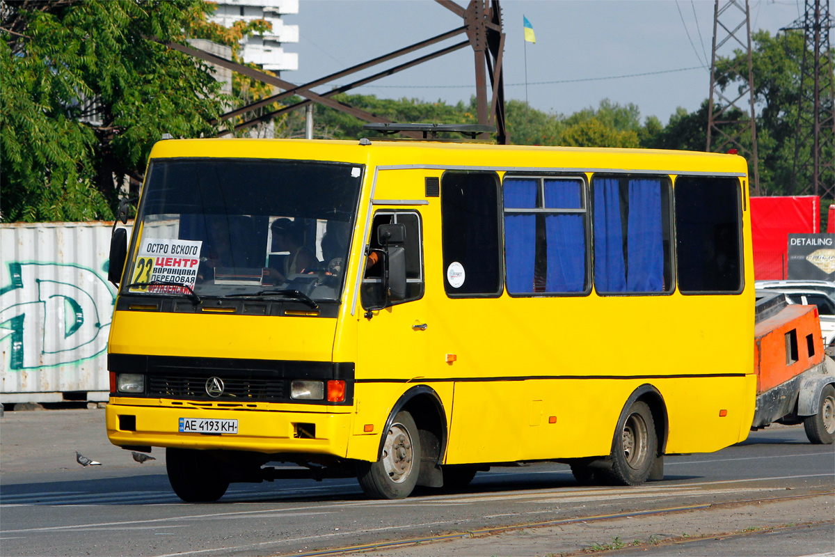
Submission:
[[[357,480],[372,499],[405,499],[420,475],[421,445],[412,414],[397,413],[376,463],[357,464]]]

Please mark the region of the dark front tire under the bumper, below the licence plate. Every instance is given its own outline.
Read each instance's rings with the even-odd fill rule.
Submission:
[[[229,479],[206,451],[166,448],[165,469],[174,493],[186,503],[214,502],[229,488]]]

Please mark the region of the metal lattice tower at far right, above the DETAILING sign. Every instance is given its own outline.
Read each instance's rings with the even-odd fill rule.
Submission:
[[[803,59],[797,104],[792,189],[799,181],[802,193],[835,198],[835,79],[829,44],[828,0],[806,0],[806,13],[786,29],[802,29]]]

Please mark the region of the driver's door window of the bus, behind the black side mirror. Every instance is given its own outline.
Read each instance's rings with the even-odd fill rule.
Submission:
[[[405,301],[417,300],[423,296],[423,237],[421,234],[420,215],[415,212],[379,211],[372,220],[369,235],[368,252],[382,249],[377,241],[377,227],[380,225],[398,224],[406,226],[406,298],[392,302],[400,304]],[[374,257],[366,257],[365,271],[362,275],[360,289],[362,306],[378,307],[383,301],[382,292],[382,261]]]

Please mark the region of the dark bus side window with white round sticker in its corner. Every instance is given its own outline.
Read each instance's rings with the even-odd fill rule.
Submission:
[[[441,179],[443,287],[450,297],[502,294],[498,175],[445,172]]]

